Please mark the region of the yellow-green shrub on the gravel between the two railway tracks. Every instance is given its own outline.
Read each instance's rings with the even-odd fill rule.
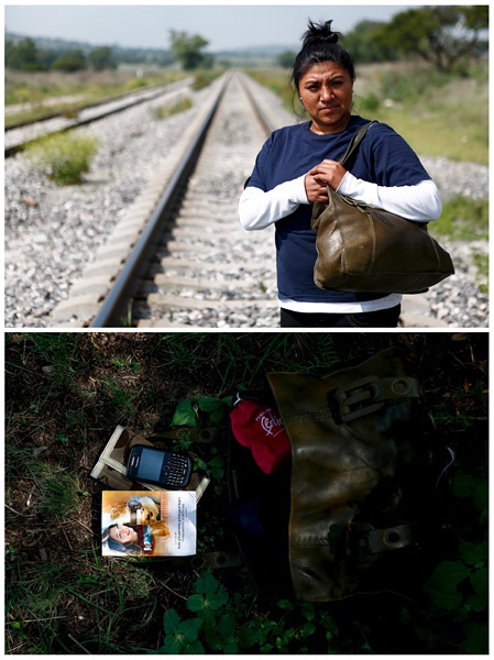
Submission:
[[[95,138],[62,133],[34,143],[26,153],[35,167],[48,172],[53,182],[70,186],[81,183],[83,174],[89,172],[90,160],[97,151]]]

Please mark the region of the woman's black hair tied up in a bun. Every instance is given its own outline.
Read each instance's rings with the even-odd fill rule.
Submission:
[[[331,30],[332,21],[312,23],[309,21],[308,30],[303,35],[301,51],[295,58],[292,68],[292,80],[298,91],[300,78],[315,64],[333,62],[343,66],[352,80],[355,79],[355,67],[350,53],[338,42],[341,40],[339,32]]]

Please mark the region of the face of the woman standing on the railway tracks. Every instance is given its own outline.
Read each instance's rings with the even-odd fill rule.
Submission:
[[[339,133],[347,128],[352,90],[350,74],[333,62],[315,64],[300,77],[298,92],[315,133]]]

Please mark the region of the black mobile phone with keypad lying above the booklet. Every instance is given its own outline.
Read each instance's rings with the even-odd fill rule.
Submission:
[[[177,451],[134,444],[127,463],[127,476],[133,481],[180,490],[190,481],[193,462]]]

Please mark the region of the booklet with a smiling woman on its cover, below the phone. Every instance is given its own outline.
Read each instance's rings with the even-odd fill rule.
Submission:
[[[103,557],[196,554],[195,491],[105,491]]]

